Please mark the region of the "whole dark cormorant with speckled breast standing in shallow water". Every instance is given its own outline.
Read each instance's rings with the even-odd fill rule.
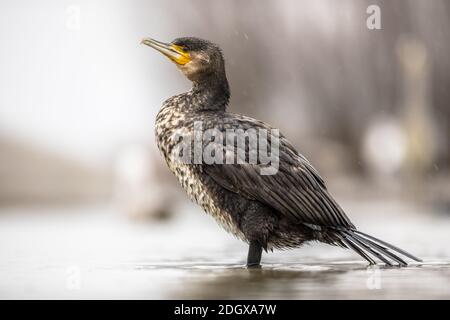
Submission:
[[[170,43],[144,38],[141,43],[169,58],[192,82],[188,92],[170,97],[159,110],[155,124],[158,148],[190,199],[226,231],[248,243],[248,268],[261,267],[263,250],[293,249],[314,241],[351,249],[370,265],[381,262],[407,266],[406,258],[422,262],[359,231],[331,196],[318,171],[281,133],[278,140],[267,139],[266,147],[275,141],[278,144],[279,162],[274,174],[263,173],[267,163],[243,161],[252,152],[248,144],[238,145],[233,140],[230,145],[235,148],[228,148],[223,136],[214,143],[210,141],[214,145],[211,154],[222,153],[234,161],[195,159],[195,150],[187,144],[180,147],[180,141],[204,142],[196,140],[196,123],[201,124],[200,132],[267,132],[276,128],[227,110],[230,88],[224,56],[215,43],[197,37],[176,38]],[[207,147],[203,144],[199,148],[202,154]],[[190,161],[180,161],[184,156]],[[235,161],[239,156],[241,162]]]

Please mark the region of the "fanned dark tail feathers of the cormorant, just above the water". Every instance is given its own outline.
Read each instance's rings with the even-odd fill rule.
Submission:
[[[361,257],[367,260],[370,264],[375,264],[374,259],[370,256],[374,256],[389,266],[392,266],[392,263],[389,259],[395,261],[400,266],[407,266],[408,264],[400,258],[398,255],[389,251],[389,249],[393,250],[396,253],[404,255],[408,258],[411,258],[415,261],[422,262],[419,258],[413,256],[412,254],[397,248],[385,241],[377,239],[375,237],[369,236],[363,232],[357,230],[340,230],[336,232],[336,235],[341,239],[341,241],[349,248],[353,249],[356,253],[358,253]]]

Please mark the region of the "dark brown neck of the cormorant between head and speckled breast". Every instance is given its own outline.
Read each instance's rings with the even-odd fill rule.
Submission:
[[[225,111],[230,99],[230,88],[225,74],[211,74],[193,82],[192,107],[196,111]]]

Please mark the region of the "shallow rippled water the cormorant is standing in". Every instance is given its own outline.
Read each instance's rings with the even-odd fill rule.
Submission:
[[[4,209],[0,298],[450,298],[448,217],[353,206],[366,213],[354,217],[362,230],[425,262],[368,268],[349,250],[314,244],[265,254],[249,270],[246,245],[190,206],[162,224],[131,223],[106,206]],[[377,206],[385,216],[373,215]]]

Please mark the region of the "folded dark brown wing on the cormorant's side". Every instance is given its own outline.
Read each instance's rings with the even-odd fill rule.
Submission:
[[[224,117],[226,128],[266,129],[261,122],[244,116]],[[268,141],[270,148],[271,141]],[[233,150],[237,159],[238,148]],[[248,156],[248,147],[244,147]],[[230,152],[227,148],[227,152]],[[241,150],[242,152],[242,150]],[[222,187],[274,208],[295,222],[354,229],[342,208],[329,194],[324,180],[309,161],[299,154],[284,136],[279,139],[279,170],[261,175],[263,165],[203,164],[203,171]]]

